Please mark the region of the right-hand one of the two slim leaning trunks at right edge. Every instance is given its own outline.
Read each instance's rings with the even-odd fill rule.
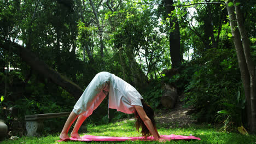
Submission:
[[[256,132],[256,79],[255,79],[255,69],[252,61],[252,56],[250,53],[250,40],[247,36],[247,31],[245,25],[243,25],[243,17],[240,9],[240,5],[236,5],[239,1],[233,0],[236,10],[236,20],[238,24],[238,29],[242,38],[243,44],[243,52],[245,53],[246,64],[250,75],[250,87],[251,87],[251,112],[252,112],[252,120],[251,120],[251,130]]]

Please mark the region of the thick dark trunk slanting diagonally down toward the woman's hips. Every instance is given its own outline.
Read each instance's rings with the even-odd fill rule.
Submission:
[[[72,94],[75,99],[79,99],[83,93],[82,88],[59,74],[56,70],[50,68],[49,65],[45,64],[36,55],[34,55],[34,53],[25,47],[16,43],[11,43],[9,40],[5,40],[5,43],[0,43],[0,47],[3,47],[5,50],[9,50],[10,47],[13,47],[13,52],[18,54],[23,61],[31,66],[31,68],[37,70],[38,73],[42,74],[46,79],[53,80],[54,83]]]

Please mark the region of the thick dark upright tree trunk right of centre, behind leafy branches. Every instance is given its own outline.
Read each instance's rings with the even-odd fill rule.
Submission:
[[[169,32],[169,43],[170,43],[170,54],[172,61],[172,68],[179,67],[181,65],[181,38],[179,33],[179,22],[176,16],[172,17],[171,11],[175,8],[173,5],[173,0],[165,0],[166,13],[170,18],[170,32]],[[174,29],[173,29],[174,25]]]

